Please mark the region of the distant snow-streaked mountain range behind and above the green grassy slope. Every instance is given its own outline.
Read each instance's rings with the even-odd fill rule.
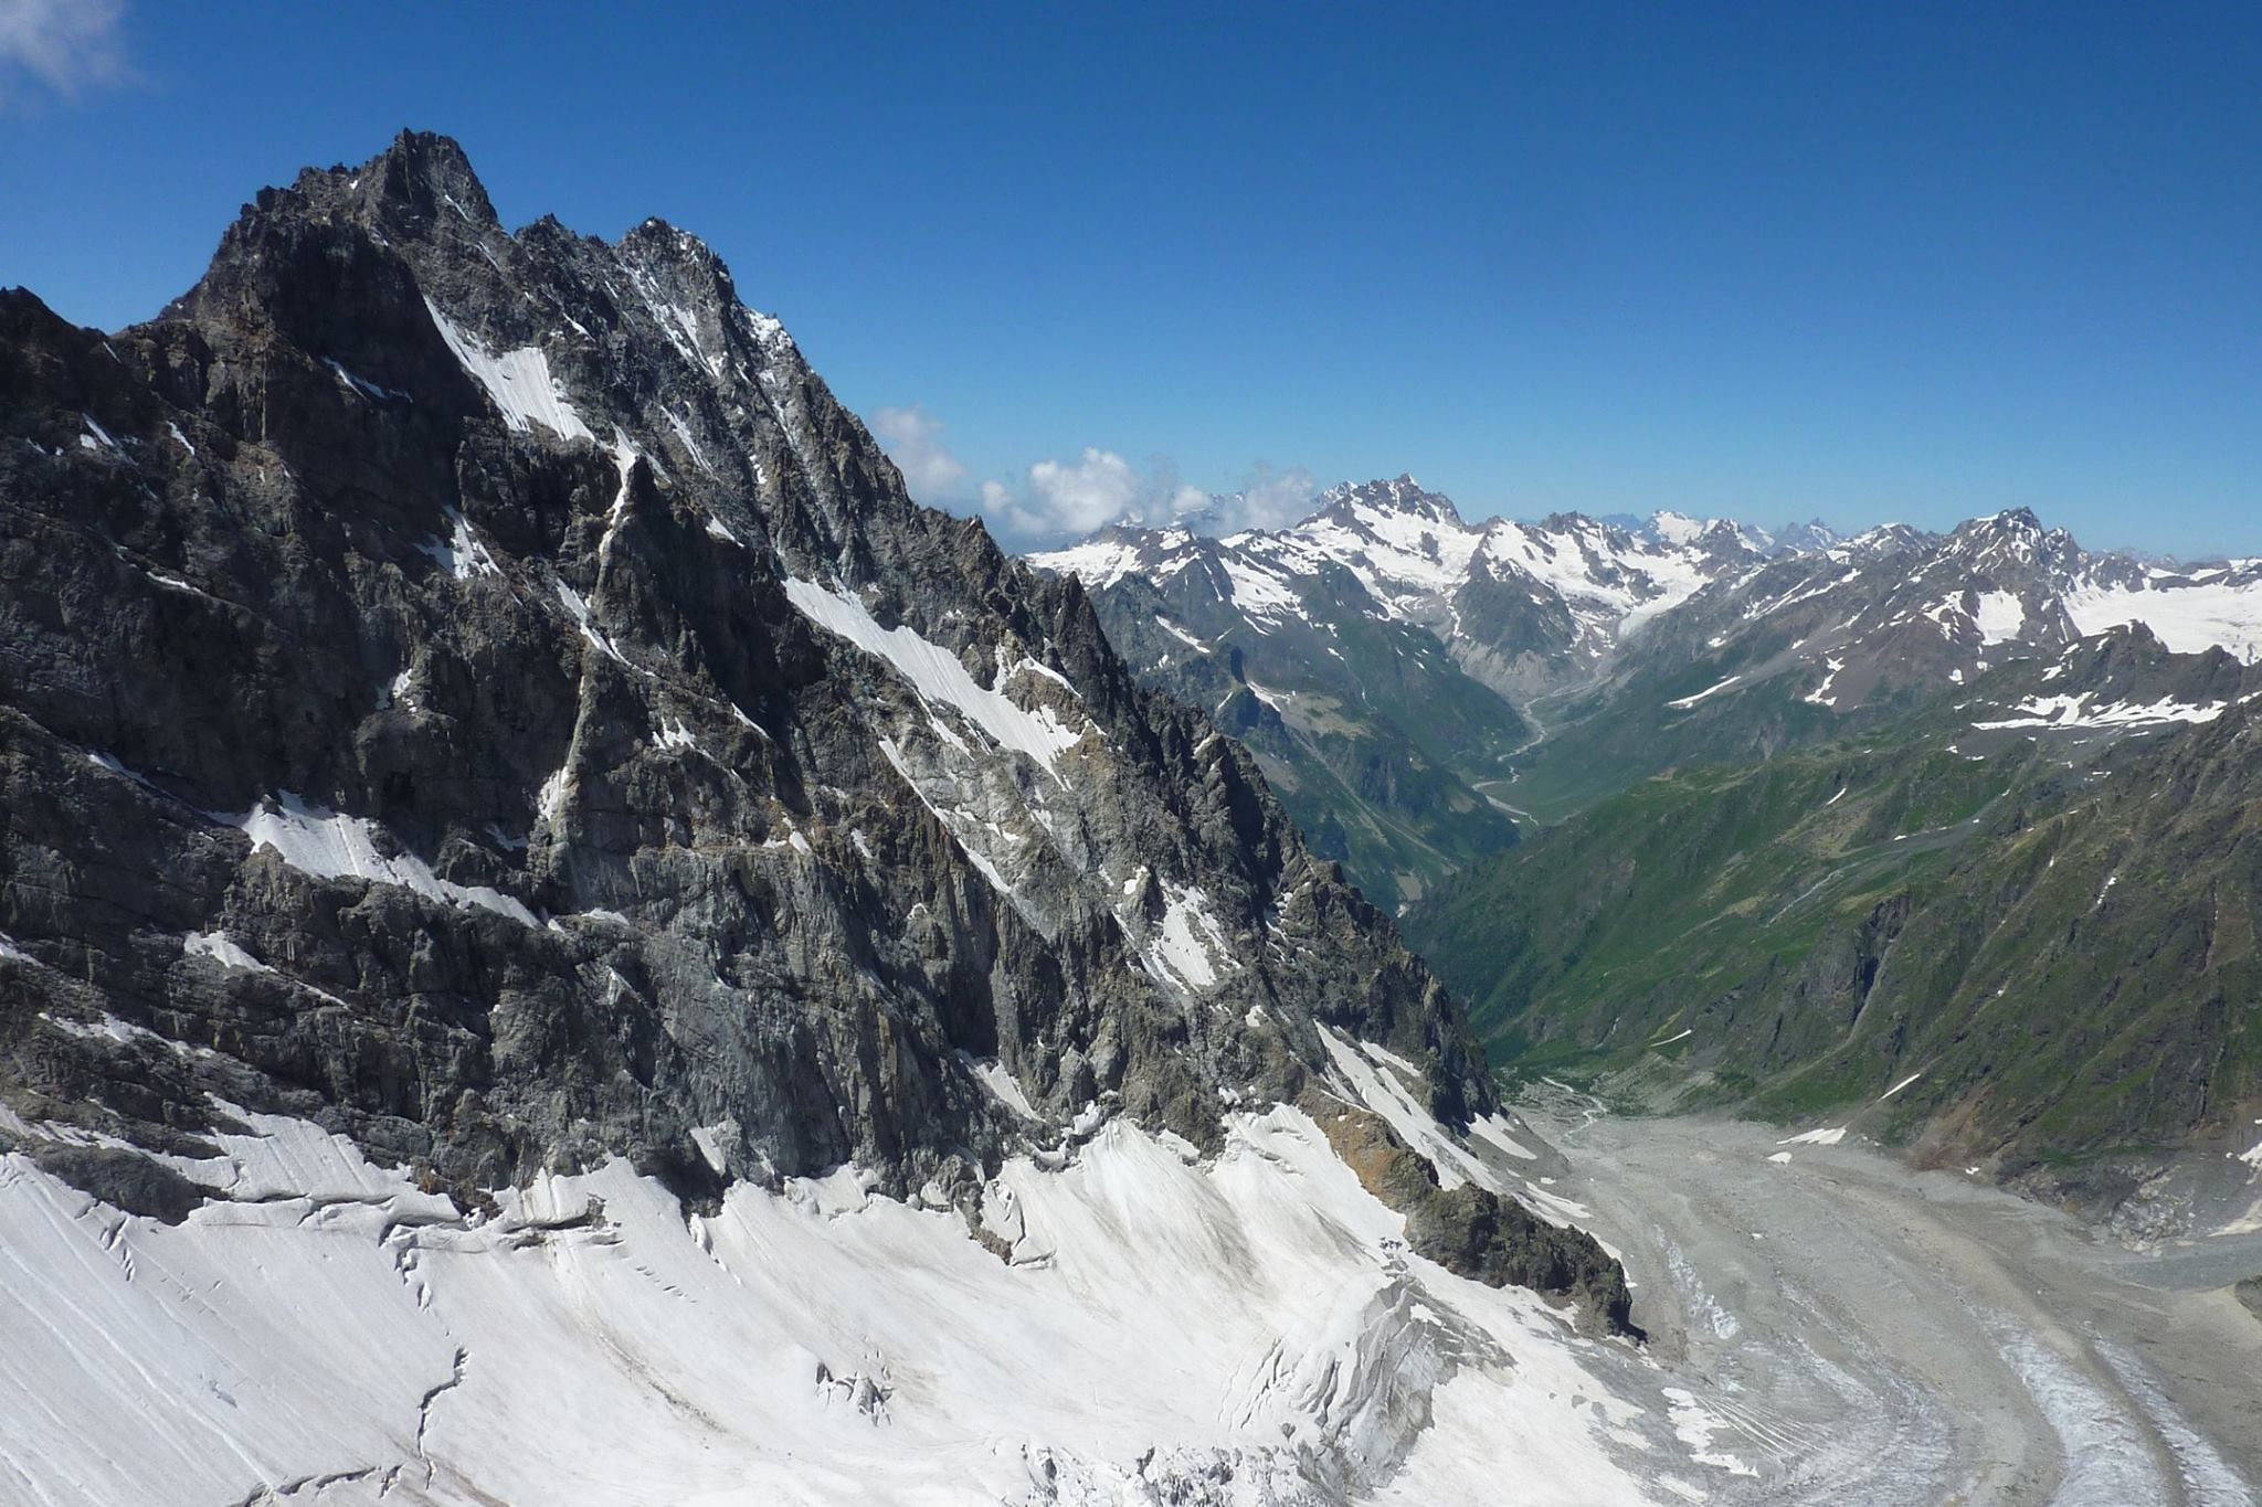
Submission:
[[[2095,554],[2029,511],[1853,538],[1681,513],[1470,524],[1398,477],[1337,486],[1289,529],[1115,526],[1029,563],[1083,581],[1145,680],[1235,725],[1384,904],[1506,847],[1482,807],[1554,820],[2119,624],[2262,655],[2262,560]]]

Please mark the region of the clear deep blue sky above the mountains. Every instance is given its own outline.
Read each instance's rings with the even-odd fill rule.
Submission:
[[[414,124],[703,235],[1022,538],[1411,470],[2262,554],[2257,77],[2255,5],[0,0],[0,282],[147,316]]]

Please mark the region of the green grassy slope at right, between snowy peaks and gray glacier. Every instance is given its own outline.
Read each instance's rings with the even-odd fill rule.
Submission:
[[[1929,721],[1644,779],[1407,917],[1511,1071],[2072,1168],[2262,1098],[2255,707],[2070,770]],[[1880,1096],[1909,1078],[1889,1103]]]

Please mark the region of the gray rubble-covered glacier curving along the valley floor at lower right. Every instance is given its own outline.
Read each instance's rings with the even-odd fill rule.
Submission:
[[[2262,1234],[2135,1254],[1855,1146],[1522,1105],[1624,1252],[1635,1322],[1701,1390],[1721,1502],[2253,1502]],[[1708,1437],[1706,1437],[1708,1435]]]

